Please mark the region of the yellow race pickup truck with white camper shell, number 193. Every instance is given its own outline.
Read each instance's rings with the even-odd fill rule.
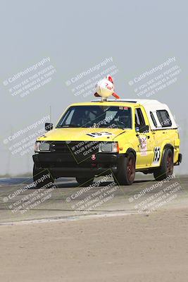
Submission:
[[[156,100],[72,104],[55,127],[46,123],[45,128],[35,143],[35,182],[49,171],[51,182],[75,177],[82,185],[111,170],[119,185],[131,185],[137,171],[163,180],[182,161],[173,115]]]

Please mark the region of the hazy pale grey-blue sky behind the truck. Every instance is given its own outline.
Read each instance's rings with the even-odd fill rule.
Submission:
[[[181,70],[175,82],[150,98],[165,102],[175,114],[184,157],[177,171],[187,172],[187,1],[1,0],[0,3],[0,174],[32,170],[32,150],[21,156],[19,152],[12,154],[10,147],[19,147],[16,143],[36,130],[23,133],[21,138],[8,144],[4,144],[4,140],[47,116],[49,106],[55,123],[68,104],[93,99],[92,94],[75,96],[76,86],[82,88],[82,83],[94,80],[102,70],[113,66],[118,70],[114,75],[115,91],[123,98],[137,98],[130,80],[173,57],[174,63],[142,81],[173,66]],[[12,81],[14,75],[36,66],[44,58],[50,61]],[[112,61],[108,61],[110,58]],[[106,66],[93,71],[94,66],[106,59]],[[12,95],[13,86],[19,89],[20,82],[24,84],[29,78],[34,81],[32,75],[50,66],[54,73],[49,82],[37,90],[32,89],[25,97]],[[73,82],[89,68],[92,68],[91,73]],[[66,85],[68,81],[71,85]],[[142,82],[135,84],[138,85]],[[146,96],[139,98],[146,99]]]

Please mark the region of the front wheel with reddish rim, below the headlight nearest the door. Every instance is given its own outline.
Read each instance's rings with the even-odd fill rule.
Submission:
[[[127,157],[125,157],[120,167],[118,168],[118,173],[115,178],[117,178],[117,182],[120,185],[132,185],[135,177],[135,165],[136,159],[134,154],[130,152]]]

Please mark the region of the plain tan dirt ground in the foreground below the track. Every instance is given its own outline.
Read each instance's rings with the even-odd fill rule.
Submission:
[[[187,282],[188,208],[0,226],[2,282]]]

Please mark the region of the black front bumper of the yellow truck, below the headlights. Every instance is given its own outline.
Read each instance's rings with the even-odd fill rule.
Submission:
[[[49,169],[56,178],[96,176],[108,170],[117,173],[123,154],[97,153],[79,163],[71,154],[41,152],[32,156],[37,169]],[[107,172],[108,173],[108,172]]]

